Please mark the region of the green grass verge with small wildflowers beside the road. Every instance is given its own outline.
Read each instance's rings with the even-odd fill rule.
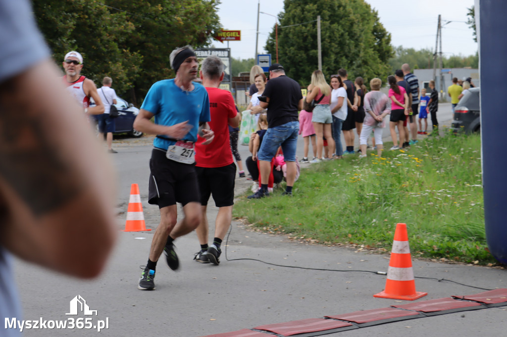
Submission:
[[[396,223],[406,223],[413,257],[494,264],[484,230],[480,145],[477,135],[447,133],[382,158],[368,153],[312,164],[294,197],[242,197],[234,215],[292,238],[379,251],[390,251]]]

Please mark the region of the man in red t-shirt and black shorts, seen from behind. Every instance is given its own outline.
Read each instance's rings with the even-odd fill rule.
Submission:
[[[201,192],[202,221],[196,229],[201,244],[194,260],[200,263],[220,264],[220,246],[232,221],[232,205],[234,204],[234,179],[236,165],[231,152],[229,125],[237,128],[240,114],[232,95],[227,90],[219,89],[224,79],[224,64],[218,56],[207,57],[201,66],[202,85],[209,96],[211,121],[209,127],[215,133],[213,142],[202,145],[204,138],[198,136],[195,144],[195,162],[199,189]],[[213,243],[208,246],[208,220],[206,207],[209,196],[213,195],[219,214],[215,220]]]

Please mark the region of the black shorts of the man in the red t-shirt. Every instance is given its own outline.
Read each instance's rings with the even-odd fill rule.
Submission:
[[[232,206],[234,204],[234,183],[236,179],[236,165],[234,163],[222,167],[198,167],[197,181],[201,193],[201,205],[208,204],[209,196],[213,195],[216,207]]]

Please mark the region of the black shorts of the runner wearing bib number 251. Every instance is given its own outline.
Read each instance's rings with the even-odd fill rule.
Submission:
[[[200,201],[195,165],[168,159],[165,151],[153,149],[148,203],[163,208],[175,205],[176,202],[185,206],[189,202]]]

